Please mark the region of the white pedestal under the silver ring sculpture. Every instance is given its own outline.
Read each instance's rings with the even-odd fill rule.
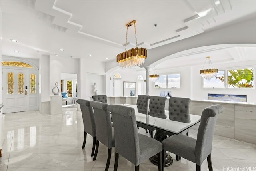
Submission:
[[[62,113],[62,96],[50,96],[50,115],[58,115]]]

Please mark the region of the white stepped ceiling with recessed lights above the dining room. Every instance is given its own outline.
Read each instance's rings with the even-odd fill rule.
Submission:
[[[124,51],[126,24],[132,20],[137,21],[138,46],[153,49],[241,22],[256,12],[254,0],[4,0],[0,3],[2,55],[23,58],[58,55],[101,62],[115,60],[116,54]],[[132,26],[128,28],[128,48],[135,46]]]

